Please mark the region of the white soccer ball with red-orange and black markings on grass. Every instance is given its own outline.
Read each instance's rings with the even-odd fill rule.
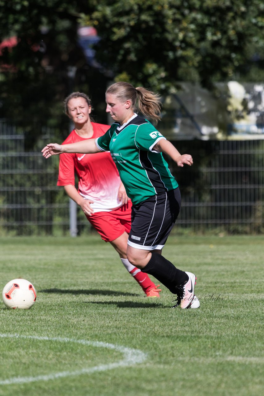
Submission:
[[[4,305],[7,308],[29,309],[36,301],[36,290],[25,279],[10,280],[2,291]]]

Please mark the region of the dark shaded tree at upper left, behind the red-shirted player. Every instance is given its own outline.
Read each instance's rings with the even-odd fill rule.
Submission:
[[[81,11],[94,10],[94,3],[0,0],[1,41],[11,36],[17,38],[16,46],[1,50],[0,117],[24,126],[29,147],[38,137],[38,131],[32,128],[34,121],[57,127],[58,133],[61,130],[67,133],[63,99],[72,89],[89,92],[89,84],[99,80],[98,70],[87,65],[77,36]],[[105,78],[100,77],[104,82],[102,98]]]

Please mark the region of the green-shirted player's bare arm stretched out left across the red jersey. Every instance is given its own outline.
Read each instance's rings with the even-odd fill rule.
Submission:
[[[67,145],[58,145],[57,143],[49,143],[42,150],[42,155],[45,158],[49,158],[51,155],[62,154],[63,152],[78,152],[84,153],[95,153],[101,152],[95,144],[95,139],[87,139],[76,143],[69,143]]]

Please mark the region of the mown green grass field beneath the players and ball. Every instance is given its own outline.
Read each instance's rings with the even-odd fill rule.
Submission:
[[[201,308],[146,299],[99,236],[1,238],[1,290],[25,278],[30,310],[0,311],[0,395],[188,396],[264,392],[263,236],[170,236]]]

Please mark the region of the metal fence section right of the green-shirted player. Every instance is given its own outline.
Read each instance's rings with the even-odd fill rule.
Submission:
[[[196,232],[263,233],[264,141],[196,141],[188,145],[194,153],[201,150],[201,156],[197,175],[189,172],[189,177],[198,180],[183,196],[178,226]],[[203,156],[205,145],[207,154]]]

